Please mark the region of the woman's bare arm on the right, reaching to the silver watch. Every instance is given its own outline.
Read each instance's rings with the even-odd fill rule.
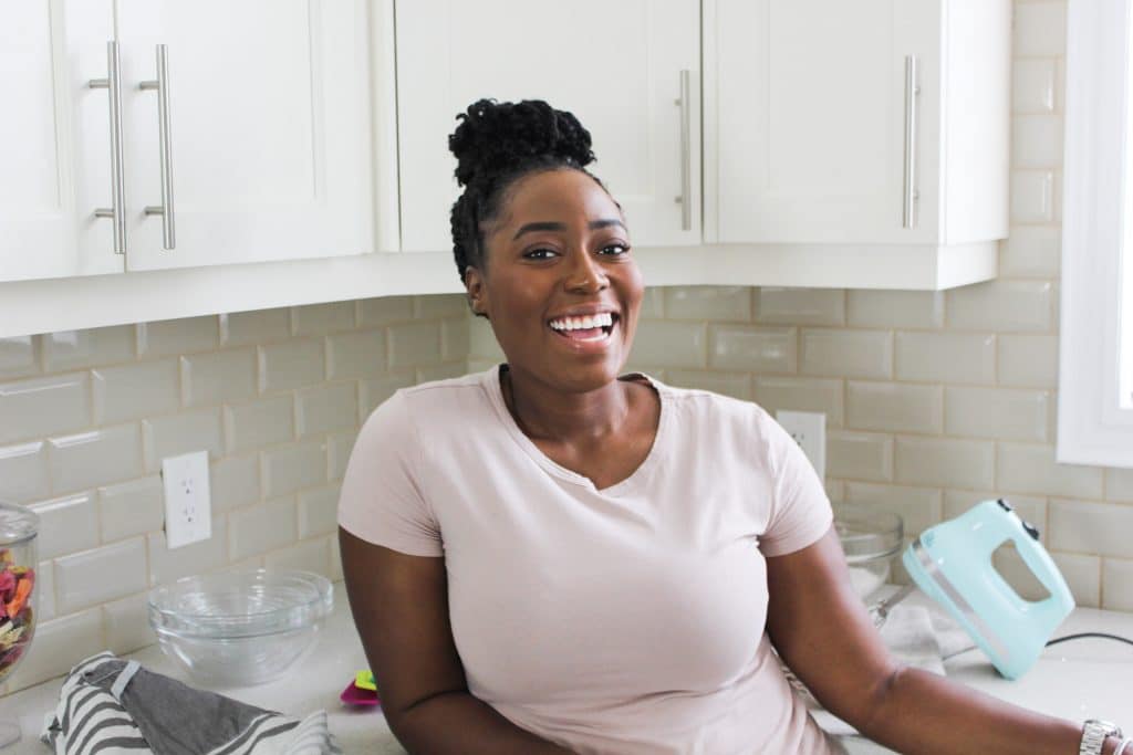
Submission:
[[[832,713],[911,755],[1075,755],[1080,723],[1041,715],[896,663],[850,583],[833,529],[767,559],[767,630],[787,666]],[[1117,746],[1106,743],[1108,755]]]

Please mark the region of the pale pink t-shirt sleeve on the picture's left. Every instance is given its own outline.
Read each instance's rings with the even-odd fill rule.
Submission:
[[[442,556],[441,527],[421,494],[420,440],[402,393],[363,424],[339,496],[339,525],[410,556]]]

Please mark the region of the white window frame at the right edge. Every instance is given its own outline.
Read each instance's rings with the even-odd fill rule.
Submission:
[[[1057,440],[1064,463],[1133,467],[1133,409],[1118,401],[1121,259],[1133,234],[1133,222],[1123,222],[1133,200],[1133,187],[1124,186],[1133,157],[1131,5],[1070,0],[1067,9]],[[1133,250],[1125,254],[1133,259]]]

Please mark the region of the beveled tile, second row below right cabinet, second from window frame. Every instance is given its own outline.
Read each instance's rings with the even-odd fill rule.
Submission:
[[[895,338],[898,380],[995,383],[996,336],[981,333],[906,333]]]

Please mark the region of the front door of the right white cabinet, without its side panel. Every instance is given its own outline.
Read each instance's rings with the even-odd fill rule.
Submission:
[[[705,24],[714,240],[936,238],[939,0],[710,0]],[[921,92],[912,229],[903,228],[908,55]]]

